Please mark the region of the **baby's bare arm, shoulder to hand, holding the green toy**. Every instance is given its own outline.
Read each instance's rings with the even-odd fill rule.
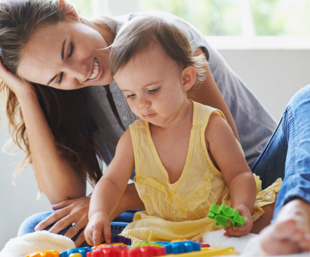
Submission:
[[[225,231],[232,236],[247,234],[253,226],[251,215],[256,199],[256,183],[252,171],[240,151],[233,131],[221,116],[215,113],[211,115],[205,137],[207,148],[228,184],[232,207],[245,218],[242,227]]]

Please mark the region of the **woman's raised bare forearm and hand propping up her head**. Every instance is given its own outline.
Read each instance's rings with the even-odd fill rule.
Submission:
[[[54,136],[31,85],[9,72],[1,62],[0,79],[13,90],[20,104],[39,189],[52,204],[85,196],[86,180],[59,156]]]

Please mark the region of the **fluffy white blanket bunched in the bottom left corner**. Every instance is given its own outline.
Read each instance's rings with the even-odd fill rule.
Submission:
[[[68,237],[47,231],[37,231],[10,239],[0,252],[0,257],[25,257],[35,251],[61,252],[72,248],[75,248],[75,244]]]

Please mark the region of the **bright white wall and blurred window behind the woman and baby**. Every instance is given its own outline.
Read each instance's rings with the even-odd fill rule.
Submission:
[[[275,120],[298,89],[310,84],[310,1],[302,0],[81,0],[71,1],[85,16],[122,15],[159,9],[188,20],[207,36]],[[94,11],[93,11],[94,10]],[[0,146],[8,139],[4,111]],[[0,152],[0,249],[28,216],[50,211],[27,168],[11,183],[21,160]],[[90,192],[92,189],[89,188]]]

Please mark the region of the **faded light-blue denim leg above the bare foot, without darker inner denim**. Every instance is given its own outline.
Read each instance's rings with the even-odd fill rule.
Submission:
[[[292,199],[310,203],[310,85],[292,97],[285,115],[288,139],[285,179],[278,193],[273,218]]]

